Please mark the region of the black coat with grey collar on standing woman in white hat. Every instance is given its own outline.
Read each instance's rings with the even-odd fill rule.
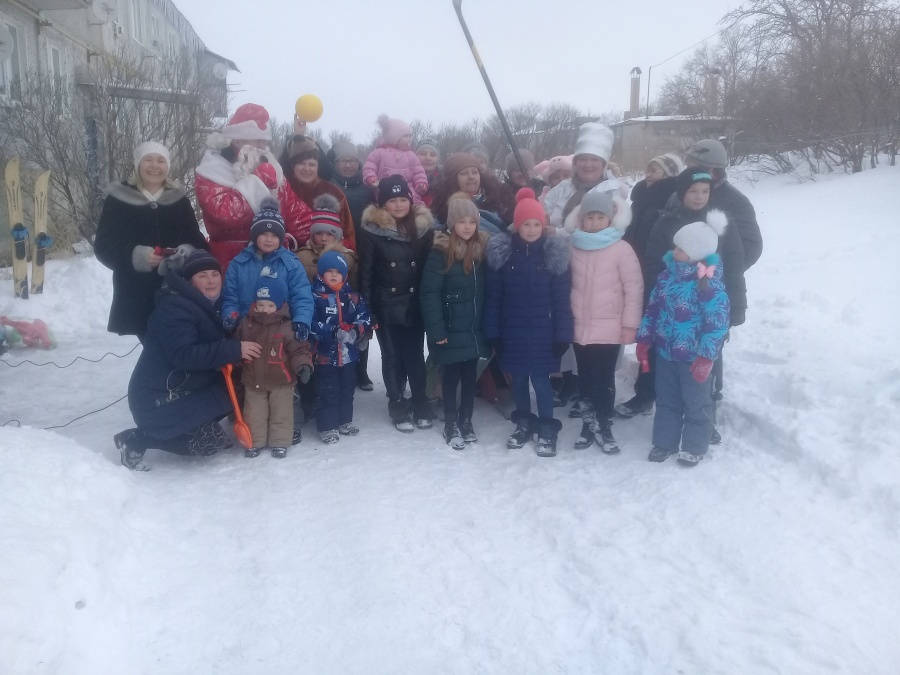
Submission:
[[[113,271],[108,330],[119,335],[143,335],[163,278],[146,263],[142,253],[141,269],[135,269],[135,247],[190,244],[208,250],[209,245],[181,190],[168,189],[155,203],[127,183],[112,183],[107,194],[94,238],[94,254]]]

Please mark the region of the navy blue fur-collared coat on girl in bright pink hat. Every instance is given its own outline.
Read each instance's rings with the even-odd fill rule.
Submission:
[[[572,342],[569,242],[545,234],[526,244],[518,233],[487,245],[484,337],[502,343],[500,366],[514,375],[559,371],[553,344]]]

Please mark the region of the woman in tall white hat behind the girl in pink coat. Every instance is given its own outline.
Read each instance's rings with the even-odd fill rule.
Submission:
[[[572,160],[573,175],[561,181],[544,197],[544,209],[553,227],[565,225],[566,218],[589,190],[612,193],[619,188],[619,182],[608,172],[613,139],[612,130],[599,122],[588,122],[578,129]],[[569,230],[576,229],[575,225],[572,223]]]

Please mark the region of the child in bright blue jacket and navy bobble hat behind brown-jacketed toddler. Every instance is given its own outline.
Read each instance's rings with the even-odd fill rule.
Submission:
[[[287,285],[287,303],[291,310],[294,336],[303,342],[309,339],[313,300],[309,279],[303,265],[291,251],[284,248],[284,220],[278,202],[264,199],[253,217],[250,243],[238,253],[225,272],[222,290],[222,324],[226,331],[237,328],[247,316],[255,300],[259,277],[277,278]]]

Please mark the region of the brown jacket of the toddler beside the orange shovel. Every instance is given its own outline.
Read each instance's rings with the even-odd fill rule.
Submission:
[[[250,313],[241,319],[237,336],[262,347],[262,355],[241,368],[241,382],[251,391],[272,391],[292,384],[302,366],[312,365],[309,343],[294,337],[287,303],[274,314],[260,314],[251,305]]]

